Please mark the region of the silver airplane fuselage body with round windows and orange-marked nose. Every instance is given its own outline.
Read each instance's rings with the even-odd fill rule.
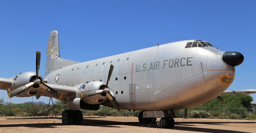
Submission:
[[[128,110],[189,108],[216,98],[234,80],[235,69],[222,61],[215,47],[185,48],[187,41],[65,66],[44,79],[50,84],[79,86],[106,82],[110,64],[114,70],[109,88],[120,107]],[[80,90],[77,87],[77,98]]]

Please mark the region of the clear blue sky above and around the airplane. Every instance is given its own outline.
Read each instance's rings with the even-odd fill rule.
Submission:
[[[48,34],[58,30],[60,56],[84,62],[187,39],[209,41],[245,57],[228,90],[256,89],[255,0],[0,0],[0,77],[44,75]],[[256,94],[252,94],[256,102]],[[21,103],[30,98],[0,98]],[[40,98],[47,102],[48,98]]]

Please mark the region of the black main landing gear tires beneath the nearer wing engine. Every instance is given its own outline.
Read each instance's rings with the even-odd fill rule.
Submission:
[[[80,110],[65,110],[62,113],[62,124],[82,124],[83,113]]]

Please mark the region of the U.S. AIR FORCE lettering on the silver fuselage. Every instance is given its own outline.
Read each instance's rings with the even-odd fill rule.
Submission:
[[[163,66],[162,68],[173,68],[173,67],[182,67],[182,66],[192,66],[191,60],[193,57],[187,58],[176,58],[164,61],[154,61],[151,62],[150,65],[147,63],[137,64],[136,72],[143,72],[148,70],[157,70],[160,69],[159,66]],[[162,63],[161,63],[162,62]]]

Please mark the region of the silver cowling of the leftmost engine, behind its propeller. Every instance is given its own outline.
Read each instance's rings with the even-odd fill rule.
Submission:
[[[44,81],[41,75],[39,75],[39,79]],[[24,86],[30,82],[33,82],[36,80],[36,72],[24,72],[20,73],[12,78],[12,88],[8,91],[15,90],[16,88],[19,88],[20,86]],[[38,88],[38,84],[34,84],[31,88]]]

